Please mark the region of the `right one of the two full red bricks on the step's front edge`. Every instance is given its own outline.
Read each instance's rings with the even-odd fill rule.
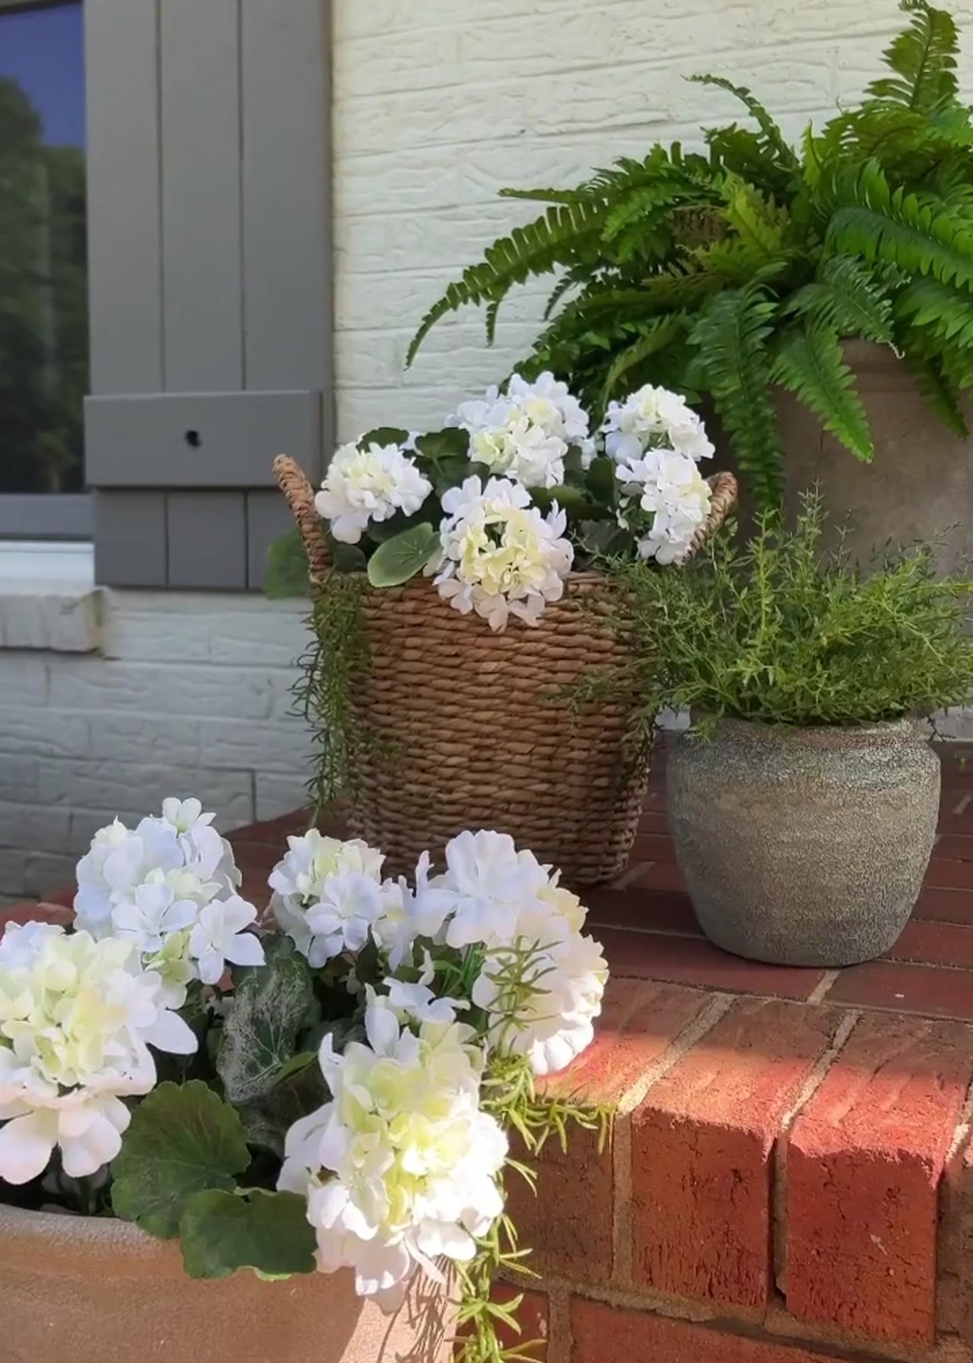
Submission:
[[[859,1022],[788,1144],[793,1315],[933,1343],[938,1189],[970,1071],[970,1028]]]

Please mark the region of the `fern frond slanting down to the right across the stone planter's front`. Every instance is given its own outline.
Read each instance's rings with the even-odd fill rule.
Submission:
[[[790,331],[778,345],[773,378],[811,408],[824,429],[859,459],[874,458],[868,416],[837,331],[814,323]]]

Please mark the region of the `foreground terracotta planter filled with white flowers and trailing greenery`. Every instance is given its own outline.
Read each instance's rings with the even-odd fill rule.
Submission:
[[[606,1123],[536,1092],[600,1011],[585,909],[501,834],[409,883],[312,830],[259,923],[210,821],[116,821],[72,927],[0,939],[4,1359],[446,1363],[458,1318],[496,1363],[504,1174]]]

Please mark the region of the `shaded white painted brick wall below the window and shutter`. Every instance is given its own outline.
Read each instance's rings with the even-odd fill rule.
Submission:
[[[198,795],[223,829],[304,799],[303,602],[105,594],[98,653],[0,650],[0,904],[72,879],[95,829]]]

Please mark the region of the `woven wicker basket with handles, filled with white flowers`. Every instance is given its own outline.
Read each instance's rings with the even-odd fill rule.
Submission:
[[[624,746],[634,698],[572,707],[564,692],[626,653],[600,617],[612,585],[596,555],[676,571],[732,507],[733,477],[699,472],[711,453],[675,393],[640,388],[594,428],[541,373],[440,431],[342,446],[316,495],[279,457],[315,597],[315,804],[345,796],[350,830],[397,872],[481,826],[571,885],[623,870],[647,771]]]

